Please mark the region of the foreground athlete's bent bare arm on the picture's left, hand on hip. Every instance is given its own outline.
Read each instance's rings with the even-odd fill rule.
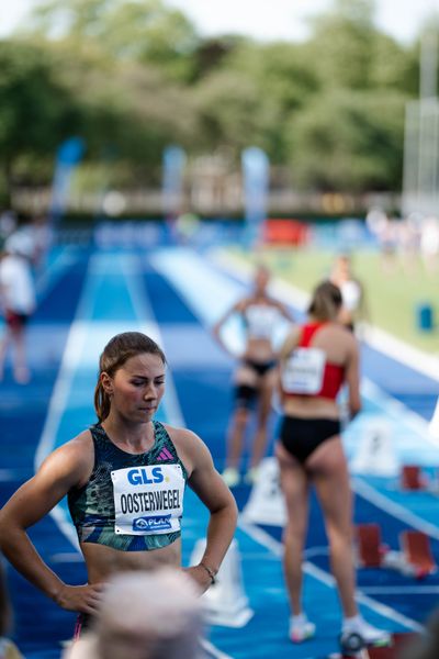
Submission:
[[[63,608],[92,614],[97,611],[101,587],[65,584],[43,561],[26,534],[26,528],[82,482],[88,463],[87,443],[81,436],[48,456],[37,473],[0,511],[0,548],[23,577]]]

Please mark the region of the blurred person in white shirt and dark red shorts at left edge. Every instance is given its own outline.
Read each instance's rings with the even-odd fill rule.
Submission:
[[[33,242],[15,232],[7,238],[0,256],[0,309],[5,331],[0,340],[0,380],[9,346],[13,346],[13,376],[18,383],[30,380],[25,350],[25,326],[35,310],[36,298],[31,261]]]

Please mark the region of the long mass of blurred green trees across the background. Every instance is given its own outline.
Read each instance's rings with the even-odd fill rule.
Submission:
[[[48,0],[8,46],[16,44],[18,58],[25,45],[36,49],[61,89],[46,100],[40,146],[26,137],[26,153],[52,153],[65,99],[70,134],[78,126],[88,143],[88,166],[112,150],[122,185],[158,182],[169,143],[190,157],[219,149],[236,168],[254,144],[296,188],[398,190],[418,53],[373,18],[372,0],[335,0],[306,42],[261,44],[202,38],[161,0]],[[50,99],[50,89],[44,94]],[[22,100],[12,94],[11,103]],[[24,116],[23,108],[18,122]]]

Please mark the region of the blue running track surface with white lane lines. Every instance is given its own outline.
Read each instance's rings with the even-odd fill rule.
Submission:
[[[213,340],[210,326],[245,290],[237,277],[187,248],[79,249],[59,247],[50,255],[38,283],[38,312],[29,327],[33,378],[12,381],[7,369],[0,384],[0,504],[27,479],[56,446],[94,422],[92,394],[98,356],[115,333],[138,330],[165,348],[170,378],[160,417],[185,424],[209,445],[218,469],[232,406],[234,367]],[[299,313],[299,312],[297,312]],[[230,345],[239,336],[228,328]],[[439,448],[426,439],[438,382],[369,346],[363,348],[364,411],[348,428],[345,442],[353,458],[371,418],[385,416],[398,437],[397,459],[414,459],[432,470]],[[277,417],[272,420],[272,455]],[[431,493],[401,492],[395,479],[354,477],[356,521],[376,521],[384,541],[397,547],[402,529],[418,528],[431,537],[439,561],[438,499]],[[239,507],[249,488],[235,491]],[[183,559],[190,561],[205,533],[206,514],[188,492]],[[60,577],[81,583],[86,573],[64,502],[30,532],[37,550]],[[306,545],[305,605],[317,636],[293,646],[286,637],[288,602],[281,570],[281,528],[240,523],[236,534],[251,619],[240,628],[213,626],[211,655],[254,659],[319,658],[337,648],[340,613],[328,568],[327,543],[318,505],[313,501]],[[27,658],[58,658],[71,636],[75,615],[64,612],[9,568],[15,610],[15,639]],[[439,578],[423,581],[391,570],[360,570],[359,602],[368,619],[390,630],[418,629],[436,607]]]

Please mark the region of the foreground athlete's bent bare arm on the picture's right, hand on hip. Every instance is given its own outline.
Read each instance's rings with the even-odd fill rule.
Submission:
[[[203,557],[196,567],[188,568],[188,571],[206,590],[213,583],[232,543],[238,511],[230,490],[215,469],[209,448],[200,437],[187,433],[184,453],[189,458],[188,467],[191,468],[188,482],[211,514]]]

